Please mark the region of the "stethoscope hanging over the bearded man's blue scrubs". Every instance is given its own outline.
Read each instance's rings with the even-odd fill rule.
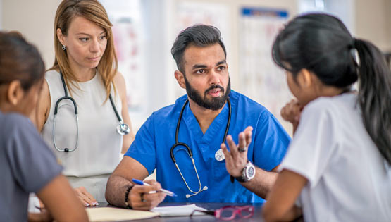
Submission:
[[[224,133],[224,137],[223,137],[223,143],[225,143],[225,137],[227,137],[227,134],[228,134],[228,129],[230,128],[230,121],[231,121],[231,102],[230,102],[230,99],[228,98],[227,99],[228,101],[228,108],[229,108],[229,113],[228,113],[228,121],[227,121],[227,126],[225,127],[225,133]],[[185,107],[186,105],[189,103],[189,99],[187,99],[185,101],[185,104],[183,104],[182,106],[182,110],[180,111],[180,114],[179,114],[179,118],[178,118],[178,123],[177,123],[177,128],[175,130],[175,144],[173,144],[173,147],[171,147],[170,149],[170,155],[171,155],[171,159],[173,159],[173,162],[176,166],[176,168],[178,169],[179,173],[180,173],[180,176],[182,177],[182,180],[183,182],[185,182],[185,185],[187,187],[188,190],[190,190],[190,192],[192,192],[192,194],[187,194],[186,195],[186,198],[190,198],[194,195],[198,195],[199,192],[201,191],[204,191],[204,190],[208,190],[208,187],[207,186],[204,186],[204,188],[201,189],[201,180],[199,180],[199,175],[198,175],[198,172],[197,172],[197,168],[194,164],[194,159],[193,159],[193,153],[192,153],[192,150],[190,149],[190,147],[185,144],[184,142],[178,142],[178,132],[179,132],[179,126],[180,126],[180,121],[182,120],[182,114],[183,114],[183,110],[185,110]],[[199,183],[199,189],[198,191],[193,191],[192,189],[190,189],[189,185],[187,185],[187,182],[185,180],[185,178],[183,177],[182,175],[182,172],[180,171],[179,167],[178,167],[178,164],[176,163],[176,160],[175,160],[175,156],[174,156],[174,149],[175,147],[178,147],[178,146],[183,146],[185,147],[186,149],[185,152],[187,152],[187,155],[189,155],[190,159],[192,159],[192,163],[193,163],[193,166],[194,166],[194,171],[197,175],[197,179],[198,179],[198,183]],[[216,152],[215,154],[215,158],[217,161],[222,161],[223,159],[225,159],[224,157],[224,154],[223,154],[223,151],[221,149],[218,149],[218,151]]]

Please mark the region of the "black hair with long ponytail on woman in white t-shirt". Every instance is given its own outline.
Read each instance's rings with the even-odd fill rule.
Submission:
[[[306,68],[323,84],[342,90],[359,79],[357,103],[364,127],[391,165],[391,70],[377,47],[354,39],[335,16],[309,13],[285,25],[272,56],[294,78]]]

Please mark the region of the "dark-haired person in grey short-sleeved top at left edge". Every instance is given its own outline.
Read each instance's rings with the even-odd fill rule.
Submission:
[[[27,118],[44,81],[38,50],[18,33],[0,32],[0,220],[27,221],[30,192],[47,211],[30,221],[88,221],[62,167]],[[53,218],[51,218],[53,217]]]

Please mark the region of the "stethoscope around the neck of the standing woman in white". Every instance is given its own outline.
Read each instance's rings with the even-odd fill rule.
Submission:
[[[54,147],[58,151],[60,151],[60,152],[73,152],[73,151],[75,151],[77,149],[77,144],[79,142],[79,117],[77,116],[77,105],[76,105],[75,99],[73,99],[72,97],[68,96],[68,90],[66,89],[66,83],[65,83],[65,80],[64,80],[64,77],[63,77],[63,73],[61,73],[61,70],[60,70],[60,75],[61,75],[61,82],[63,83],[65,96],[61,97],[60,99],[58,99],[56,101],[56,106],[54,106],[53,142],[54,142]],[[111,97],[111,94],[108,96],[108,98],[110,99],[111,106],[113,106],[114,112],[116,113],[118,121],[120,122],[117,125],[117,132],[118,132],[118,134],[120,134],[120,135],[127,135],[130,132],[129,125],[126,124],[126,123],[123,123],[122,118],[120,118],[120,115],[118,114],[118,111],[116,109],[116,105],[114,104],[114,101],[113,101],[113,98]],[[58,104],[60,104],[60,102],[63,101],[64,99],[69,99],[70,101],[72,101],[73,107],[75,109],[76,143],[75,143],[75,148],[73,148],[73,149],[69,149],[69,148],[59,149],[57,147],[57,144],[56,144],[56,136],[55,136],[56,135],[55,134],[56,130],[55,129],[56,129],[56,119],[57,119],[57,113],[58,113]],[[70,106],[70,105],[63,104],[62,106]],[[61,106],[60,106],[60,108],[61,108]]]

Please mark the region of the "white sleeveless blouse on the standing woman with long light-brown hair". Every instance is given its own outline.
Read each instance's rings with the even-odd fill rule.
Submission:
[[[80,90],[75,87],[73,87],[75,90],[72,93],[68,90],[68,95],[76,101],[79,118],[78,144],[77,149],[73,152],[58,152],[54,147],[54,106],[56,101],[65,95],[61,76],[56,70],[50,70],[46,72],[45,79],[49,84],[51,106],[49,117],[42,130],[42,137],[64,166],[63,174],[76,178],[76,180],[75,178],[70,180],[74,187],[80,185],[75,182],[78,178],[101,177],[101,175],[108,178],[108,175],[113,172],[120,161],[123,136],[116,131],[119,122],[110,100],[104,102],[106,90],[99,73],[96,73],[92,80],[77,82]],[[119,94],[114,93],[113,87],[111,96],[120,114],[122,104]],[[73,149],[75,147],[77,138],[75,109],[69,99],[61,101],[58,105],[55,133],[58,148]],[[86,181],[95,183],[94,180]],[[106,186],[104,181],[100,183]],[[89,191],[88,185],[83,183],[81,185]],[[100,187],[99,190],[101,192],[104,187]],[[104,193],[99,195],[104,195]]]

